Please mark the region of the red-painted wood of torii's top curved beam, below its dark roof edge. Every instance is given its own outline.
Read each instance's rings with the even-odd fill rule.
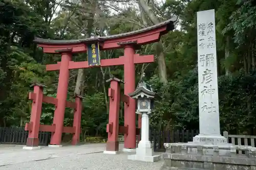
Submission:
[[[102,47],[100,50],[114,50],[118,48],[122,48],[122,46],[118,45],[119,42],[126,42],[126,41],[137,41],[138,45],[144,45],[149,44],[153,42],[159,41],[161,37],[161,33],[165,32],[167,26],[164,25],[160,28],[156,28],[153,30],[148,30],[146,32],[137,33],[134,35],[129,35],[126,37],[119,37],[119,38],[113,38],[113,39],[106,39],[104,42],[102,42]],[[56,50],[62,50],[67,48],[73,48],[72,53],[84,53],[87,51],[86,44],[83,42],[72,44],[40,44],[38,43],[38,46],[43,47],[44,53],[57,53]]]

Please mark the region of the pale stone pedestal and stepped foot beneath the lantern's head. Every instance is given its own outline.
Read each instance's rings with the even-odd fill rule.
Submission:
[[[140,160],[145,162],[156,162],[160,160],[160,155],[154,155],[153,148],[151,148],[151,142],[149,140],[150,135],[150,119],[147,113],[142,114],[141,119],[141,140],[136,148],[135,155],[129,155],[130,160]]]

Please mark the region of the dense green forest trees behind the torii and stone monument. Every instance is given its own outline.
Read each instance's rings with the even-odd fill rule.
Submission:
[[[155,25],[179,16],[176,29],[139,54],[154,54],[156,62],[136,65],[136,83],[145,79],[163,98],[155,102],[151,127],[158,130],[199,129],[196,12],[215,9],[221,131],[256,135],[256,3],[252,0],[0,0],[0,127],[25,126],[33,82],[45,83],[45,95],[56,96],[58,71],[45,64],[60,61],[44,54],[34,36],[78,39],[114,35]],[[101,51],[101,59],[123,50]],[[87,60],[77,54],[74,61]],[[105,136],[111,76],[123,79],[122,66],[71,70],[68,100],[85,97],[83,136]],[[123,88],[123,87],[122,87]],[[51,125],[54,106],[44,104],[41,124]],[[120,108],[123,124],[123,104]],[[73,122],[66,109],[65,125]]]

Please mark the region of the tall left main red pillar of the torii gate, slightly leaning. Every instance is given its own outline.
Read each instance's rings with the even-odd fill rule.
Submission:
[[[59,82],[57,88],[58,107],[55,108],[53,124],[56,125],[55,132],[52,134],[50,144],[59,145],[61,143],[61,135],[63,132],[63,121],[67,104],[67,94],[69,85],[69,62],[72,54],[62,53],[59,70]]]

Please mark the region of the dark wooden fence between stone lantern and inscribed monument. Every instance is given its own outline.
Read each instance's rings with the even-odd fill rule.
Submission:
[[[165,152],[163,143],[176,143],[193,141],[193,137],[199,134],[199,130],[175,130],[150,132],[150,140],[154,146],[154,152]]]

